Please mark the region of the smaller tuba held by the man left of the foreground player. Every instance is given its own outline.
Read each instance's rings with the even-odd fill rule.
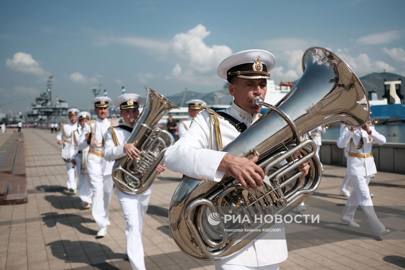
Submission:
[[[142,193],[151,186],[156,177],[156,167],[163,163],[166,148],[174,142],[173,136],[158,127],[158,121],[171,109],[176,108],[171,101],[157,92],[146,88],[147,97],[141,117],[126,141],[138,141],[136,148],[141,152],[137,159],[128,156],[115,161],[112,178],[115,186],[122,192]]]

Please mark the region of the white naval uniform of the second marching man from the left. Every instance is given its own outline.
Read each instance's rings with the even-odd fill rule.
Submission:
[[[81,154],[79,154],[79,139],[82,133],[80,125],[77,126],[77,130],[73,131],[72,139],[70,141],[70,160],[76,161],[76,175],[79,178],[79,198],[81,201],[86,201],[88,204],[92,203],[93,190],[90,186],[89,175],[81,173]]]

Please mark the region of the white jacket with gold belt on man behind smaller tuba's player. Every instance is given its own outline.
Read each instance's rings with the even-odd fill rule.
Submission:
[[[105,135],[110,124],[107,118],[103,120],[96,118],[96,120],[90,120],[84,124],[83,132],[79,139],[78,150],[83,150],[87,146],[90,147],[89,155],[87,156],[87,174],[89,175],[111,175],[114,163],[104,159]],[[85,139],[87,133],[91,133],[94,145],[87,144]]]

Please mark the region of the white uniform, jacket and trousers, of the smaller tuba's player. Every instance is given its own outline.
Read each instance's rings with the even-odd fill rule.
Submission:
[[[129,126],[125,122],[124,125]],[[113,134],[115,135],[115,141]],[[126,156],[126,153],[124,153],[124,144],[130,135],[131,133],[129,131],[117,126],[113,128],[113,131],[109,129],[105,139],[104,158],[108,161],[115,161],[116,159]],[[124,193],[115,187],[114,193],[118,195],[119,204],[121,205],[127,224],[125,229],[126,253],[132,269],[145,269],[142,227],[148,209],[149,197],[152,193],[152,186],[140,194],[132,192]]]

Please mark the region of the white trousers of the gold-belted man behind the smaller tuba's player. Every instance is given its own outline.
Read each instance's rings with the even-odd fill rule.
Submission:
[[[113,179],[107,176],[90,174],[90,184],[93,189],[92,214],[98,229],[107,227],[108,208],[113,192]]]

